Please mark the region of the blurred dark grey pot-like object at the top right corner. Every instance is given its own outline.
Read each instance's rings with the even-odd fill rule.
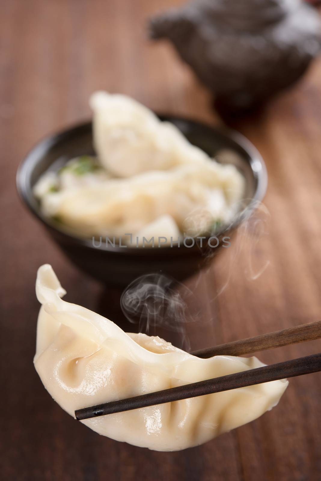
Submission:
[[[194,0],[154,17],[213,91],[222,111],[247,111],[293,84],[320,53],[318,14],[299,0]]]

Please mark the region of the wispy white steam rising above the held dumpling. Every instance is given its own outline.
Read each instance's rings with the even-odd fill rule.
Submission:
[[[238,274],[243,272],[239,280],[244,282],[244,278],[248,281],[259,278],[270,264],[269,260],[261,259],[257,255],[259,242],[269,231],[268,209],[264,204],[252,201],[242,210],[240,216],[241,223],[232,236],[231,247],[221,248],[225,251],[223,279],[221,285],[215,290],[209,289],[209,304],[213,303],[226,289],[236,266]],[[224,226],[223,231],[221,230],[218,235],[224,235],[224,231],[229,235],[227,232],[230,228],[233,228],[233,225]],[[209,248],[205,251],[203,249],[202,253],[212,256],[216,251]],[[204,271],[211,269],[212,267],[208,267],[199,273],[195,278],[195,289]],[[121,297],[124,316],[129,322],[138,324],[139,332],[161,335],[162,329],[172,331],[172,334],[175,333],[171,336],[172,339],[175,338],[173,343],[185,351],[190,351],[188,323],[200,321],[201,309],[198,309],[198,305],[197,298],[190,289],[162,274],[148,274],[137,278],[123,291]],[[212,321],[212,318],[207,319],[207,322]],[[166,335],[164,337],[168,338]]]

